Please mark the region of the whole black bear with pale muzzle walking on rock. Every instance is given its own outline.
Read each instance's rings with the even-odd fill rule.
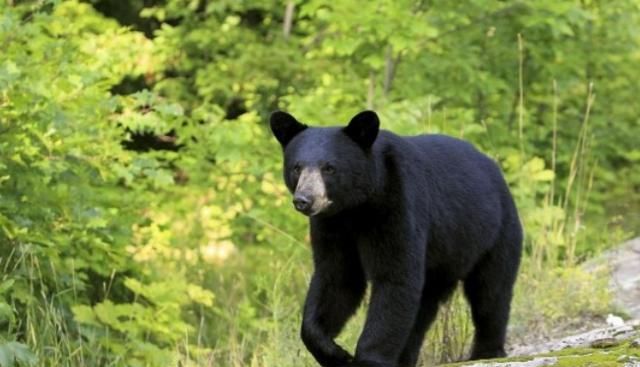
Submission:
[[[413,367],[439,303],[459,281],[471,359],[505,355],[522,228],[497,164],[443,135],[379,130],[373,111],[308,127],[276,111],[284,181],[309,216],[314,273],[301,337],[322,366]],[[334,342],[371,283],[355,355]]]

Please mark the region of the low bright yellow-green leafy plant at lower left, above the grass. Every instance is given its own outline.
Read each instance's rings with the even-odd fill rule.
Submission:
[[[136,302],[114,304],[105,300],[93,307],[77,305],[73,314],[82,325],[79,331],[83,337],[129,365],[163,365],[171,360],[172,347],[194,331],[182,318],[183,308],[213,304],[210,291],[180,277],[152,284],[129,278],[124,283],[136,294]]]

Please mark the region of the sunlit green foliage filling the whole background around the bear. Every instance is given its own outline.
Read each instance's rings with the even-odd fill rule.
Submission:
[[[0,3],[0,365],[315,365],[276,108],[474,142],[526,228],[514,330],[607,309],[577,266],[640,206],[636,1],[289,5]],[[465,307],[426,360],[465,353]]]

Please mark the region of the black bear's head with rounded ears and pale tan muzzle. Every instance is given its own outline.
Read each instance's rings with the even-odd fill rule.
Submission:
[[[290,114],[271,114],[271,131],[284,153],[284,181],[301,213],[332,215],[366,202],[375,190],[371,151],[380,122],[373,111],[346,127],[309,127]]]

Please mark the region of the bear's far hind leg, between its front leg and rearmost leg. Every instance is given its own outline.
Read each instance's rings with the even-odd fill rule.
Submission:
[[[429,326],[436,318],[440,303],[451,296],[457,282],[444,282],[443,276],[427,274],[425,289],[422,292],[420,310],[409,335],[409,339],[398,359],[399,367],[415,367],[420,356],[420,348]],[[441,284],[436,284],[440,282]]]

